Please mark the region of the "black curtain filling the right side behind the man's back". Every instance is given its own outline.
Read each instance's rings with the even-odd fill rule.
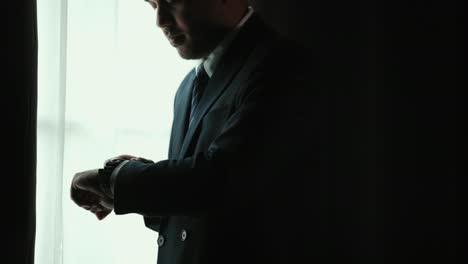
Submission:
[[[323,175],[314,177],[322,177],[318,196],[326,202],[321,211],[311,208],[311,215],[320,214],[309,223],[326,218],[328,237],[314,244],[314,226],[298,227],[310,238],[311,252],[328,243],[326,261],[314,260],[455,263],[457,253],[464,254],[456,243],[463,234],[456,179],[467,161],[465,100],[456,71],[463,57],[462,6],[403,0],[253,4],[318,60],[310,62],[320,69],[310,76],[321,85],[310,88],[323,95],[320,140],[326,147]],[[285,231],[294,225],[291,220]]]

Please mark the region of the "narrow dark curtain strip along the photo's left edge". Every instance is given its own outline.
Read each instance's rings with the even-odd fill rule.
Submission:
[[[2,50],[2,229],[0,262],[34,263],[36,210],[37,27],[36,1],[9,1],[7,47]],[[5,25],[5,24],[4,24]],[[5,31],[4,31],[5,32]]]

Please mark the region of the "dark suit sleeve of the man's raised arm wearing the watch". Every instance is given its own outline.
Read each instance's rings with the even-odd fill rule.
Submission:
[[[258,78],[245,83],[236,111],[205,153],[154,164],[127,162],[115,182],[116,214],[196,215],[227,203],[251,203],[258,187],[255,177],[268,174],[266,167],[274,171],[282,166],[281,157],[291,154],[290,135],[283,132],[293,128],[285,129],[284,121],[297,124],[298,115],[291,114],[294,107],[288,103],[294,100],[277,90],[284,85],[291,83],[273,85]],[[286,110],[272,113],[280,102]],[[271,164],[270,156],[278,162]]]

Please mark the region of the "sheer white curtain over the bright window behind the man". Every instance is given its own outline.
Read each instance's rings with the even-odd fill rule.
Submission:
[[[37,264],[155,263],[138,215],[98,221],[69,198],[74,173],[118,154],[167,157],[180,59],[138,0],[38,0]]]

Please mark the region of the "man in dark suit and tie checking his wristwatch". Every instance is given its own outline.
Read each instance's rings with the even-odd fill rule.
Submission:
[[[169,157],[121,155],[77,173],[72,199],[99,219],[143,215],[159,232],[159,264],[300,257],[303,171],[317,160],[298,62],[308,54],[247,0],[147,1],[180,56],[202,59],[177,91]]]

